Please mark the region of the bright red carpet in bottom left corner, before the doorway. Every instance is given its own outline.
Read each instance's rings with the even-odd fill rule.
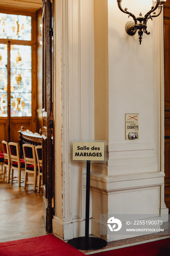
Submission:
[[[83,256],[73,246],[53,236],[0,243],[0,256]]]

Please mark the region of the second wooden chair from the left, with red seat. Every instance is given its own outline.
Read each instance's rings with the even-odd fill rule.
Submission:
[[[13,184],[13,170],[18,170],[18,183],[21,186],[21,171],[25,170],[25,161],[19,157],[19,147],[17,143],[9,142],[9,153],[11,157],[11,184]]]

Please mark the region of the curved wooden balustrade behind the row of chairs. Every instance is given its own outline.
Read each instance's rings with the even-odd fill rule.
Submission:
[[[20,146],[20,158],[23,158],[23,144],[31,144],[31,145],[42,145],[42,136],[39,133],[32,133],[28,129],[25,130],[24,127],[21,127],[19,132],[19,146]]]

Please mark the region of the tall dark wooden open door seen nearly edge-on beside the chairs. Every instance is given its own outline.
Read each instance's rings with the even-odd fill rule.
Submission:
[[[52,111],[52,4],[50,0],[43,1],[43,85],[42,85],[42,113],[43,113],[43,216],[46,230],[52,232],[53,218],[53,111]]]

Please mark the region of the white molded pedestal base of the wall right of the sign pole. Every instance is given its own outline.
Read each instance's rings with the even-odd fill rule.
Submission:
[[[167,222],[168,208],[162,202],[164,176],[163,172],[124,176],[106,176],[92,172],[92,234],[107,241],[136,236],[109,235],[107,224],[103,224],[106,232],[101,235],[100,214],[149,214],[156,219],[163,217],[163,222]]]

